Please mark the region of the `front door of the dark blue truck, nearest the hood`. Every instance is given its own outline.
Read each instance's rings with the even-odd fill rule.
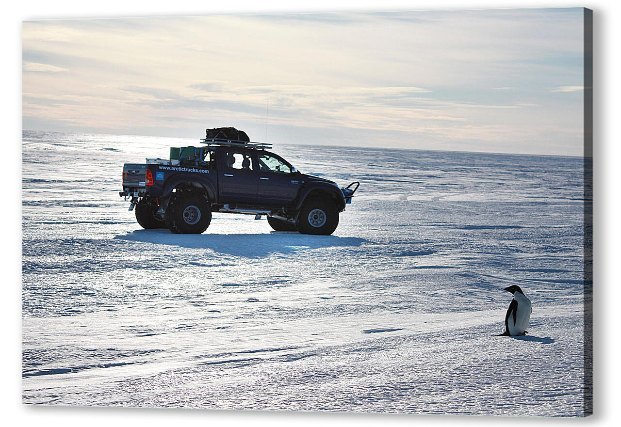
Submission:
[[[259,205],[291,205],[300,188],[299,176],[291,172],[291,165],[272,153],[259,151],[258,191]]]

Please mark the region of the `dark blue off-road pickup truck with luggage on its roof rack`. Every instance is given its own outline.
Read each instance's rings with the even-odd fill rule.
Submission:
[[[170,159],[124,164],[119,194],[130,199],[129,210],[135,207],[142,228],[202,233],[212,212],[265,215],[276,231],[330,235],[337,228],[338,213],[351,203],[359,182],[339,188],[300,173],[268,151],[271,145],[250,142],[241,131],[233,133],[239,139],[210,131],[203,146],[171,148]]]

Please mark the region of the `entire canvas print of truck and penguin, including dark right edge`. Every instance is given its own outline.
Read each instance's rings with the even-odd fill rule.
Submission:
[[[591,414],[591,16],[24,22],[22,402]]]

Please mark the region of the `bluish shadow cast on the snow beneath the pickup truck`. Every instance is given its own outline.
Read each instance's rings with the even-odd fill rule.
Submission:
[[[308,249],[336,246],[361,246],[374,243],[359,237],[311,236],[285,231],[258,234],[173,234],[168,230],[136,230],[115,239],[179,246],[188,249],[211,249],[215,253],[244,258],[263,258],[272,253],[288,254]]]

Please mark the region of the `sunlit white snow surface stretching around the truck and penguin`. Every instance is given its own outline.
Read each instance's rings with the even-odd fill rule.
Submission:
[[[140,229],[122,164],[196,144],[24,133],[24,403],[583,415],[582,158],[279,145],[334,235]]]

